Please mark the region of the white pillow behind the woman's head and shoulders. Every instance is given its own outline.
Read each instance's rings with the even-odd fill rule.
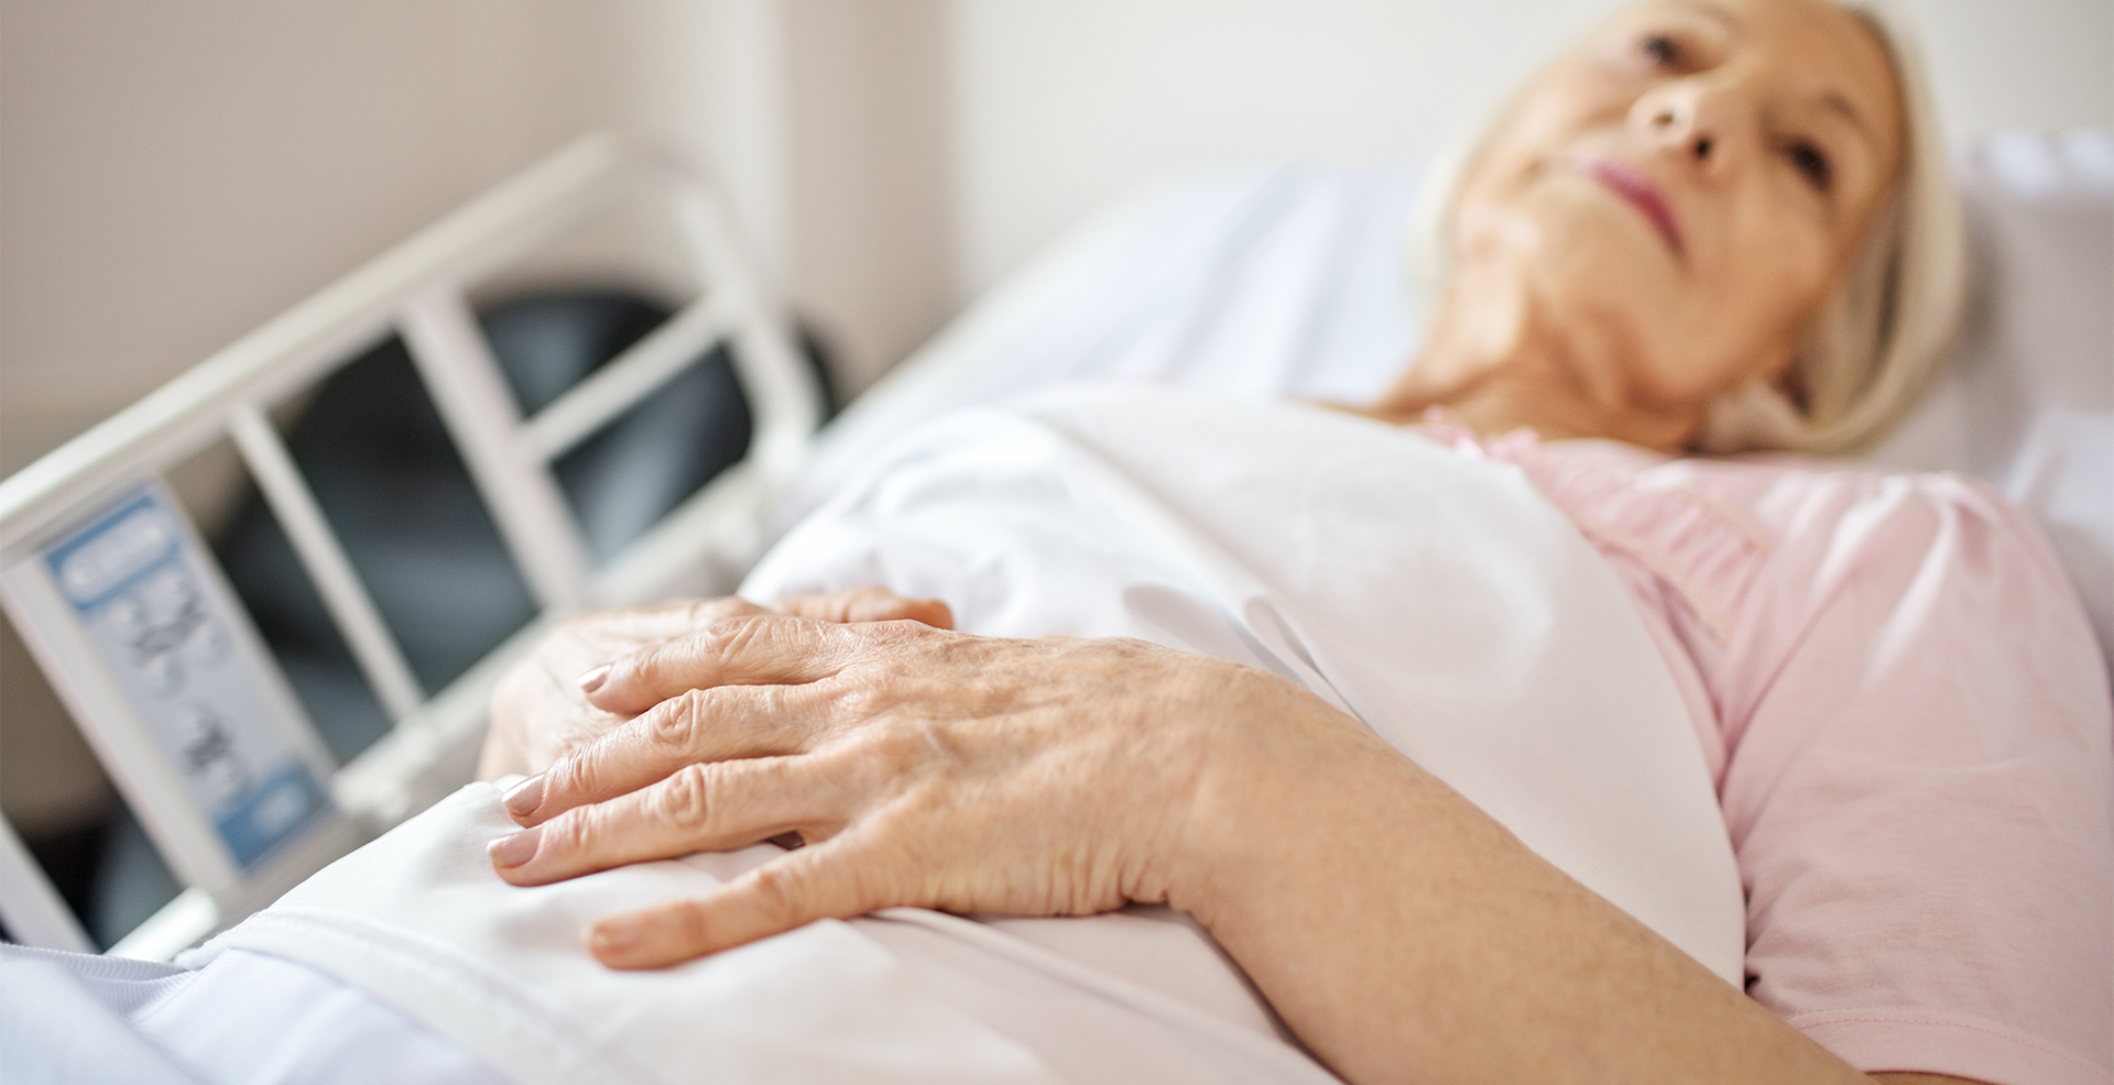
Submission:
[[[1875,460],[2029,509],[2114,644],[2114,133],[1994,133],[1960,156],[1962,348]],[[1080,378],[1366,399],[1414,357],[1416,169],[1251,167],[1137,192],[1006,277],[831,424],[784,530],[888,437]],[[2114,671],[2114,656],[2110,656]]]

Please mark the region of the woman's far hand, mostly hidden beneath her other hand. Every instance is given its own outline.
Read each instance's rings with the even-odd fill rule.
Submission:
[[[759,606],[748,599],[679,599],[636,610],[579,614],[543,637],[516,663],[493,692],[490,726],[478,760],[478,779],[541,773],[560,754],[594,741],[628,720],[588,701],[579,675],[655,644],[696,633],[715,621],[742,614],[799,614],[833,623],[920,621],[953,629],[953,612],[939,599],[907,599],[882,587],[795,595]]]

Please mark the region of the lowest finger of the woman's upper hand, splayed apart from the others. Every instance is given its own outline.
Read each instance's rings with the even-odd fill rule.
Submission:
[[[818,918],[852,918],[886,901],[871,863],[846,834],[772,859],[708,897],[609,916],[588,929],[588,952],[613,969],[664,969],[731,950]]]

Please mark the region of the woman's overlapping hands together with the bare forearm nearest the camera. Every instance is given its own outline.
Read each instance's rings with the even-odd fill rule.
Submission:
[[[507,792],[493,868],[805,842],[598,920],[619,969],[890,906],[1167,901],[1353,1083],[1871,1081],[1311,692],[947,618],[869,591],[571,623],[501,690],[486,764],[548,770]]]

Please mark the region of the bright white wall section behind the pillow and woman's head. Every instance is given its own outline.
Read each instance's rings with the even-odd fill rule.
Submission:
[[[956,0],[964,298],[1226,160],[1423,158],[1609,0]],[[2108,0],[1907,0],[1955,133],[2114,125]]]

